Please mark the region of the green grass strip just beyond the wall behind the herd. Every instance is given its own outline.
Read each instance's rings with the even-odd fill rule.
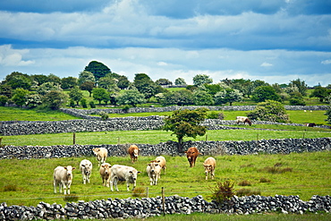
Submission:
[[[301,127],[305,130],[305,127]],[[261,130],[209,130],[205,136],[196,139],[184,138],[184,141],[192,140],[269,140],[269,139],[301,139],[301,138],[325,138],[331,137],[330,129],[313,131],[261,131]],[[75,143],[81,145],[101,144],[158,144],[168,140],[177,141],[172,132],[165,131],[113,131],[113,132],[75,132]],[[13,146],[52,146],[72,145],[73,133],[31,134],[1,136],[3,145]]]

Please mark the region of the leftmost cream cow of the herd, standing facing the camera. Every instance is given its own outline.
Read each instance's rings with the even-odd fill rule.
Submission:
[[[56,185],[59,185],[60,193],[62,193],[62,187],[64,188],[64,194],[67,194],[66,189],[68,189],[68,194],[70,194],[70,186],[72,185],[72,170],[76,167],[72,166],[57,166],[54,169],[54,193],[56,193]]]

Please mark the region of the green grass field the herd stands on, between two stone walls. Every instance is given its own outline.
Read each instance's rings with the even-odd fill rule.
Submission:
[[[111,155],[111,153],[110,153]],[[166,158],[166,174],[161,174],[157,186],[149,185],[146,166],[154,157],[139,157],[132,165],[130,157],[108,157],[111,165],[120,164],[134,166],[141,174],[138,175],[137,187],[146,190],[149,187],[149,197],[161,195],[161,187],[165,188],[165,196],[174,194],[184,197],[202,195],[205,200],[211,200],[211,189],[216,181],[232,180],[234,189],[241,189],[238,183],[249,182],[245,188],[259,191],[263,196],[299,195],[301,200],[310,200],[313,195],[327,195],[331,191],[331,152],[292,153],[289,155],[250,155],[250,156],[214,156],[216,158],[216,179],[205,180],[202,163],[209,156],[200,156],[195,167],[189,167],[185,156]],[[93,163],[90,183],[82,184],[79,164],[83,158]],[[98,173],[98,162],[95,157],[66,157],[48,159],[2,159],[0,160],[0,201],[8,205],[36,206],[39,201],[65,204],[64,195],[54,193],[53,171],[56,166],[76,167],[73,172],[71,193],[78,200],[102,200],[107,198],[129,198],[132,191],[126,191],[124,183],[119,184],[119,191],[110,191],[102,185]],[[292,168],[282,173],[270,173],[264,168],[275,166]],[[260,182],[261,177],[269,182]],[[8,188],[11,186],[11,188]],[[13,187],[14,186],[14,187]],[[145,191],[146,193],[146,191]]]

